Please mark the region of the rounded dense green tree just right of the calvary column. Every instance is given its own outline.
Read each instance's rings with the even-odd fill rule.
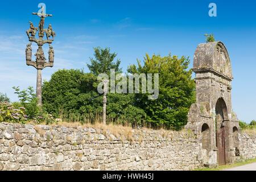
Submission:
[[[96,76],[78,69],[59,70],[53,73],[51,80],[43,82],[43,107],[55,117],[59,117],[60,113],[95,113],[96,105],[99,105],[96,100],[97,85],[94,85],[96,81]]]

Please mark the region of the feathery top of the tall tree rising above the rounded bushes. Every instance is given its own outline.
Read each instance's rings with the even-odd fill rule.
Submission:
[[[100,73],[110,73],[110,69],[115,69],[115,72],[121,73],[119,65],[121,61],[117,59],[114,62],[117,53],[110,53],[110,48],[94,48],[94,58],[90,57],[90,64],[87,64],[90,72],[98,76]]]

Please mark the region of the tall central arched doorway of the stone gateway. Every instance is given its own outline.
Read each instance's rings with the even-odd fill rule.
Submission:
[[[219,98],[215,107],[215,131],[216,131],[216,147],[218,148],[218,164],[226,163],[225,154],[225,121],[228,121],[228,107],[223,98]]]

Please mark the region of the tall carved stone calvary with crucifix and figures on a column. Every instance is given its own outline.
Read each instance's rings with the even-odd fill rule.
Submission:
[[[26,48],[26,63],[32,67],[35,67],[38,74],[36,79],[36,97],[38,98],[38,106],[42,105],[42,69],[46,67],[53,67],[54,62],[54,51],[51,43],[55,37],[55,32],[52,30],[51,24],[49,24],[47,29],[44,29],[44,19],[47,16],[52,16],[51,14],[45,14],[44,7],[42,7],[42,13],[32,13],[32,15],[38,15],[40,17],[40,22],[38,27],[34,27],[34,24],[30,22],[30,28],[26,31],[28,40]],[[36,38],[36,33],[38,32],[38,38]],[[44,34],[46,34],[46,40],[44,40]],[[32,61],[32,48],[31,44],[35,42],[38,45],[38,50],[35,53],[36,60]],[[48,61],[44,56],[43,45],[49,44],[48,51]]]

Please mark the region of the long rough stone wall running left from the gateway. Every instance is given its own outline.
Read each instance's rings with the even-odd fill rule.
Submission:
[[[189,170],[201,166],[199,150],[188,131],[115,137],[86,127],[0,123],[0,170]]]

